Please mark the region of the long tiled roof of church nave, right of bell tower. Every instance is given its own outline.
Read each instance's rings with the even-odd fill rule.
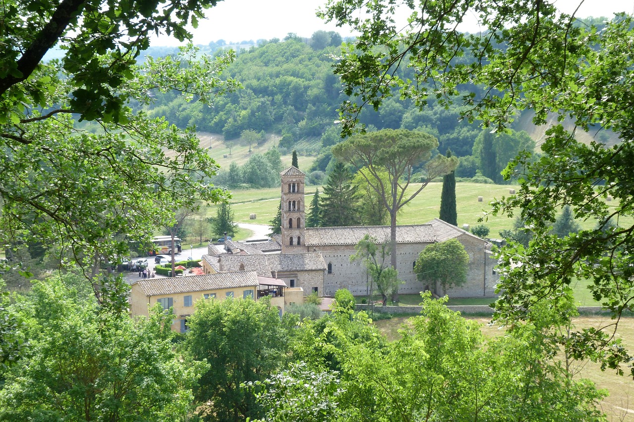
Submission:
[[[309,227],[306,246],[356,245],[370,234],[378,242],[389,240],[389,226]],[[396,226],[396,243],[432,243],[436,241],[431,224]]]

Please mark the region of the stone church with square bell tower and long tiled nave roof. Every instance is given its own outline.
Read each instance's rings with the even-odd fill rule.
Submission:
[[[347,288],[353,295],[368,295],[369,283],[365,266],[359,262],[351,263],[350,257],[355,253],[354,245],[365,234],[369,233],[382,243],[389,239],[390,227],[306,227],[306,175],[293,166],[280,175],[281,238],[278,239],[281,243],[281,253],[321,253],[326,269],[323,275],[323,289],[318,289],[320,295],[332,296],[340,288]],[[428,283],[417,280],[414,263],[425,246],[452,238],[460,241],[469,253],[469,273],[465,285],[451,288],[446,293],[451,297],[495,296],[498,275],[495,271],[496,260],[491,253],[491,243],[439,219],[426,224],[397,227],[397,270],[399,279],[404,281],[399,287],[399,293],[418,293],[427,289],[439,295],[443,294],[439,285],[429,286]]]

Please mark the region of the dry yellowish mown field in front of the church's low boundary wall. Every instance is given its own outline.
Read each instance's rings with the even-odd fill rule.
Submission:
[[[504,334],[500,326],[490,325],[488,317],[469,317],[481,326],[481,331],[485,336],[499,336]],[[398,330],[407,323],[407,317],[394,317],[392,319],[382,319],[375,321],[375,325],[391,341],[400,338]],[[601,316],[581,316],[574,319],[576,328],[601,328],[612,324],[614,321],[609,317]],[[619,321],[616,338],[621,338],[623,345],[632,350],[634,348],[634,317],[622,318]],[[561,359],[561,357],[559,357]],[[573,366],[574,378],[579,380],[587,378],[597,385],[597,388],[604,388],[609,392],[609,396],[602,400],[600,408],[607,415],[607,420],[611,422],[624,421],[634,422],[634,381],[631,377],[619,376],[614,371],[601,371],[600,366],[594,362],[576,362]],[[629,368],[623,368],[628,373]]]

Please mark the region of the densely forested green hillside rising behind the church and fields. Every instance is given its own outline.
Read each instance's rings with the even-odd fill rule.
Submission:
[[[288,155],[295,149],[302,157],[314,157],[313,165],[304,168],[307,172],[325,172],[332,158],[330,146],[341,140],[337,110],[347,99],[342,93],[339,76],[333,74],[332,68],[340,54],[341,42],[336,32],[318,31],[309,39],[289,34],[283,41],[258,40],[257,44],[243,41],[228,46],[218,40],[209,46],[199,46],[201,53],[210,54],[235,49],[236,60],[223,72],[223,77],[235,78],[242,83],[243,89],[218,98],[212,107],[176,92],[162,94],[145,110],[151,117],[164,116],[181,128],[195,125],[198,132],[219,134],[229,151],[236,144],[247,143],[251,153],[251,143],[270,146],[272,138],[281,155]],[[174,48],[153,48],[148,55],[172,54],[173,51]],[[466,94],[478,89],[465,85],[461,91]],[[504,141],[493,136],[497,139],[496,155],[484,159],[482,154],[491,151],[482,150],[482,141],[478,141],[482,137],[480,122],[462,120],[460,112],[460,106],[444,108],[434,98],[419,110],[413,101],[394,96],[385,99],[378,111],[364,108],[359,120],[369,130],[402,128],[432,134],[439,141],[437,153],[444,154],[450,149],[453,155],[460,157],[456,176],[474,177],[476,170],[480,170],[496,182],[503,182],[500,170],[515,153],[522,148],[538,147],[544,137],[545,127],[533,125],[533,115],[524,112],[512,125],[516,133],[505,136]],[[611,132],[593,135],[605,143],[617,139]],[[589,141],[590,136],[586,137]],[[243,164],[247,157],[242,158],[236,157],[236,160]],[[225,160],[228,162],[225,161],[223,168],[227,171],[228,163],[236,160],[232,160],[231,155]],[[225,186],[233,184],[233,188],[245,183],[232,183],[226,179],[221,177],[215,182]],[[321,182],[323,175],[316,174],[309,181],[313,179]]]

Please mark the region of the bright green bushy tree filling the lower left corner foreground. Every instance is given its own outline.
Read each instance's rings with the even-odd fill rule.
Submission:
[[[79,276],[34,282],[14,307],[29,352],[3,373],[0,418],[27,420],[179,420],[209,368],[177,355],[173,315],[153,309],[133,320],[98,312]]]

